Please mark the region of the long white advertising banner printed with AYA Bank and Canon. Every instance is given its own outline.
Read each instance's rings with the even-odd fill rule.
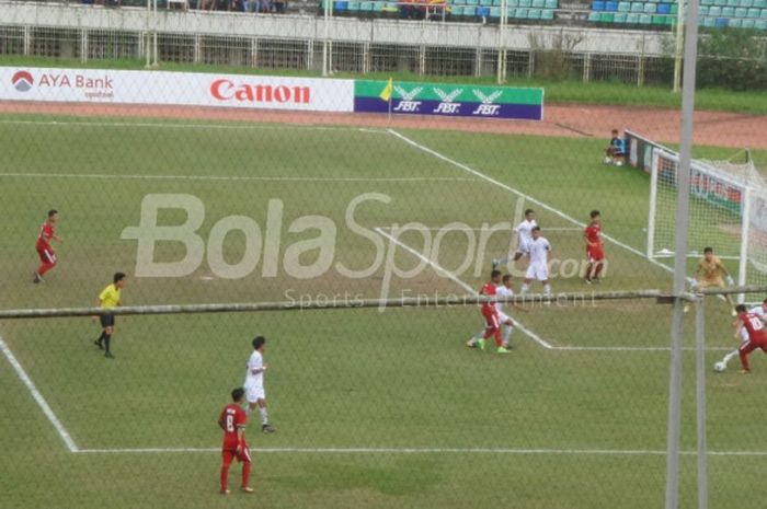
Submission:
[[[0,67],[0,101],[353,112],[354,81],[197,72]]]

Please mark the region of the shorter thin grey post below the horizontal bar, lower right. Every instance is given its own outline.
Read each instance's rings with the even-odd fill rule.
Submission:
[[[695,303],[695,396],[698,429],[698,509],[707,509],[709,477],[706,440],[706,313],[702,298]]]

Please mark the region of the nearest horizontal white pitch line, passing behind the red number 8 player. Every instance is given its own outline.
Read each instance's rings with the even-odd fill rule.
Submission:
[[[220,448],[136,448],[81,449],[81,454],[161,454],[220,453]],[[665,456],[654,449],[516,449],[516,448],[256,448],[255,454],[514,454],[514,455],[596,455],[596,456]],[[680,451],[695,456],[696,451]],[[709,451],[710,456],[767,456],[767,451]]]

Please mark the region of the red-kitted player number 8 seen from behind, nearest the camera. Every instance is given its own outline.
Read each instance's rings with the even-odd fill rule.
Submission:
[[[221,455],[224,463],[221,464],[221,494],[229,495],[229,465],[237,458],[237,461],[242,463],[242,485],[240,489],[243,493],[251,494],[253,488],[248,486],[250,478],[250,449],[245,443],[245,424],[248,416],[242,408],[245,400],[245,390],[242,387],[234,389],[231,392],[231,404],[224,407],[221,415],[218,417],[218,426],[224,430],[224,446],[221,447]]]

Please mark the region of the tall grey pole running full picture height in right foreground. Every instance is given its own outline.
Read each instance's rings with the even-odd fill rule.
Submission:
[[[687,4],[684,82],[682,86],[682,136],[677,175],[676,241],[674,259],[674,317],[672,320],[671,377],[668,384],[668,432],[666,441],[666,509],[679,507],[679,439],[682,435],[682,343],[684,336],[687,235],[689,230],[689,182],[692,158],[695,71],[698,58],[698,0]]]

